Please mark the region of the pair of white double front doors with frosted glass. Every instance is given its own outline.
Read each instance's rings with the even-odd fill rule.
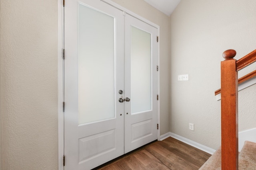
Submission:
[[[92,169],[157,139],[157,29],[101,0],[64,16],[64,168]]]

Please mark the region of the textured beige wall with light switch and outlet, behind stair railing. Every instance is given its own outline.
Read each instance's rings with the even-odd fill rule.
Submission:
[[[181,0],[170,16],[170,131],[213,149],[220,146],[220,61],[256,49],[255,0]],[[255,63],[254,63],[255,64]],[[256,68],[242,70],[239,77]],[[189,74],[189,81],[177,81]],[[255,128],[256,86],[239,92],[239,131]],[[247,108],[250,107],[250,108]],[[188,124],[194,123],[194,131]]]

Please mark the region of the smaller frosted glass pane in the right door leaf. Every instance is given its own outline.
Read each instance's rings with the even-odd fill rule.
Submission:
[[[131,27],[131,113],[151,110],[151,34]]]

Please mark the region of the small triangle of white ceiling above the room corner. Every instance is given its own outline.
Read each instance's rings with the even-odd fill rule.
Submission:
[[[167,16],[170,16],[180,0],[144,0],[154,8],[160,10]]]

